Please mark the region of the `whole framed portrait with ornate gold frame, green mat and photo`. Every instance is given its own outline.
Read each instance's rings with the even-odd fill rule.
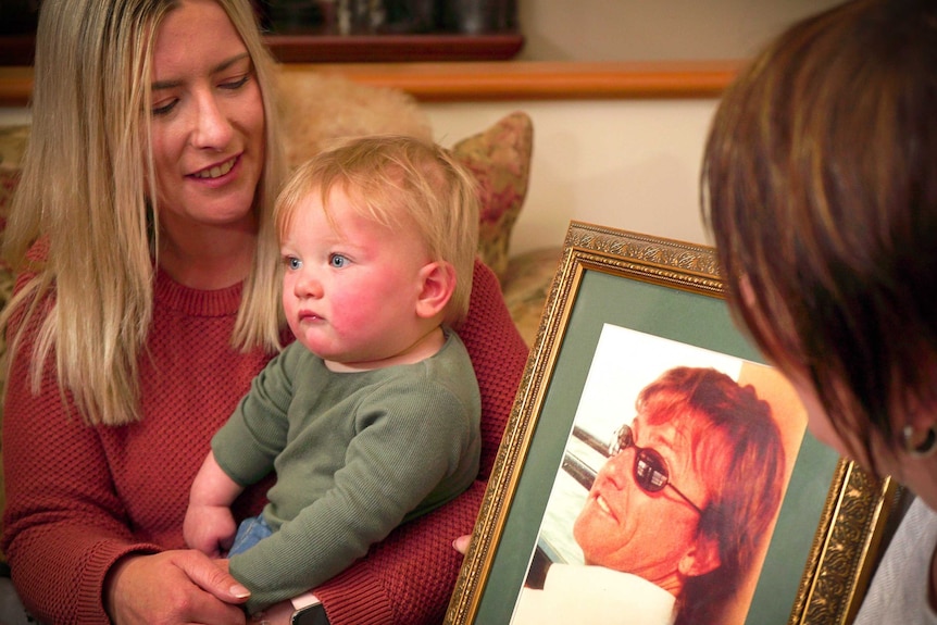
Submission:
[[[711,248],[573,222],[446,623],[849,623],[897,487],[805,423]]]

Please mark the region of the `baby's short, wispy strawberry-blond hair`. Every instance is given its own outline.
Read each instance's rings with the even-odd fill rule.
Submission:
[[[448,150],[412,137],[383,135],[347,141],[300,165],[276,202],[283,237],[310,193],[318,192],[326,216],[333,189],[353,209],[391,232],[415,230],[429,257],[455,270],[455,289],[443,323],[460,324],[469,312],[478,247],[475,178]]]

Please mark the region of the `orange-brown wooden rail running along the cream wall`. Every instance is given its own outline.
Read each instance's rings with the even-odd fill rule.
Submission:
[[[714,98],[732,82],[738,61],[284,64],[285,72],[343,74],[367,85],[395,87],[417,100],[586,100]],[[33,68],[0,67],[0,105],[25,107]]]

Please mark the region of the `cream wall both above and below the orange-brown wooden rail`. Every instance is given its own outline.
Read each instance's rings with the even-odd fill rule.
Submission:
[[[517,0],[519,60],[746,59],[841,0]],[[570,220],[708,242],[702,146],[716,100],[425,104],[450,145],[513,110],[534,118],[534,161],[512,249],[560,245]]]

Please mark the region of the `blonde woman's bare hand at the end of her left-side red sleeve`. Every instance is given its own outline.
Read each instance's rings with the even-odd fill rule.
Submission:
[[[223,566],[193,550],[128,555],[104,582],[104,609],[116,625],[245,625],[250,592]]]

